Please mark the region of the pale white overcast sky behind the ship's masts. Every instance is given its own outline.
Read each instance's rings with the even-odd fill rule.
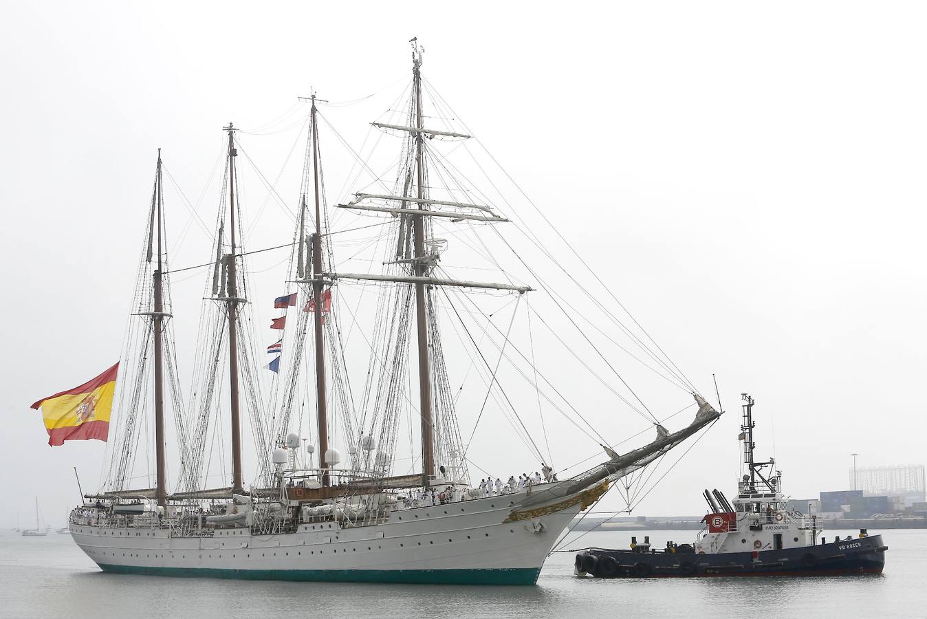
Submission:
[[[211,226],[225,123],[264,127],[311,86],[332,101],[375,95],[323,109],[359,147],[409,80],[413,36],[429,82],[682,371],[706,394],[717,374],[729,414],[638,513],[700,513],[705,486],[733,493],[743,391],[758,401],[759,455],[775,450],[796,498],[846,488],[852,452],[860,466],[921,463],[921,4],[566,8],[7,3],[0,493],[11,507],[0,524],[18,511],[28,521],[36,494],[63,524],[77,499],[72,466],[95,488],[102,444],[48,448],[29,405],[120,355],[156,149]],[[241,139],[273,179],[298,129]],[[329,139],[334,203],[350,162]],[[298,177],[301,148],[287,174]],[[282,178],[278,192],[295,206],[298,178]],[[190,228],[173,264],[209,259],[209,237],[171,192],[172,231]],[[265,202],[273,212],[256,244],[286,242],[291,221],[262,185],[252,179],[245,197],[248,212]],[[194,317],[202,285],[202,275],[175,280]],[[567,384],[582,375],[562,367]],[[584,404],[610,439],[646,427]],[[472,411],[459,415],[469,435]],[[474,457],[498,467],[505,430],[493,432]],[[588,440],[564,440],[564,463],[594,453]]]

